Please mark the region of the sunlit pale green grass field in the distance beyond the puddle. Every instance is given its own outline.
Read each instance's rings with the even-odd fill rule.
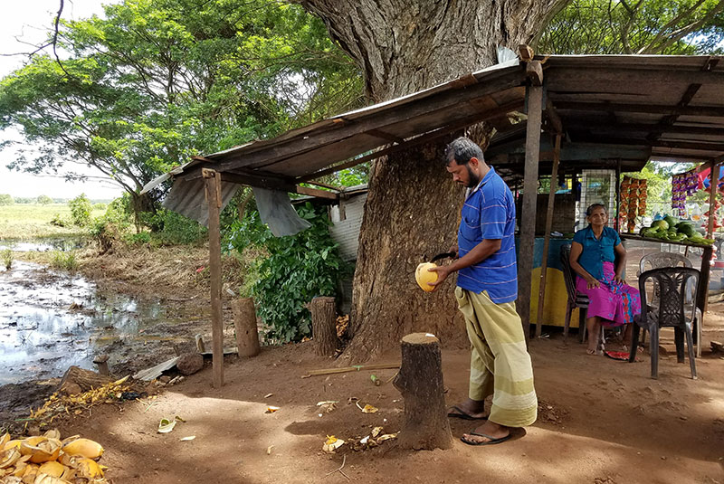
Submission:
[[[103,210],[93,210],[91,217],[99,217]],[[0,205],[0,239],[32,239],[52,235],[82,233],[80,227],[58,227],[51,224],[55,215],[71,219],[68,204],[12,204]]]

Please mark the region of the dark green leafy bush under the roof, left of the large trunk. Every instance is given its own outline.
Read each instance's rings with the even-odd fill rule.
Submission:
[[[310,312],[305,305],[315,296],[335,296],[338,280],[351,269],[329,235],[327,211],[315,211],[309,203],[297,211],[312,225],[296,235],[274,237],[254,210],[233,223],[228,239],[239,252],[253,246],[269,254],[253,265],[250,279],[256,279],[249,295],[267,327],[265,337],[273,342],[310,336]]]

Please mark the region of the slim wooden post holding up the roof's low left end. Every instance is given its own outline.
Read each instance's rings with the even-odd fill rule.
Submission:
[[[221,233],[219,211],[221,209],[221,177],[219,173],[203,168],[206,188],[206,205],[209,210],[209,266],[211,267],[211,334],[212,373],[214,388],[224,386],[224,324],[221,312]]]

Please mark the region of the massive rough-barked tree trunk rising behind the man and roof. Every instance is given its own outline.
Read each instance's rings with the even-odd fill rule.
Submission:
[[[372,100],[390,100],[490,66],[499,45],[528,43],[566,0],[302,0],[362,69]],[[476,129],[487,145],[490,129]],[[414,268],[455,242],[462,190],[443,165],[450,138],[378,160],[369,181],[346,355],[374,358],[406,333],[447,343],[464,331],[452,289],[423,293]]]

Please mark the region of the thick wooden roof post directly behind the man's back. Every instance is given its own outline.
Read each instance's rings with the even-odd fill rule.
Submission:
[[[528,126],[526,128],[526,164],[523,174],[523,204],[520,214],[518,248],[518,312],[523,323],[526,343],[530,336],[530,285],[533,251],[536,243],[536,203],[538,198],[538,157],[540,154],[540,119],[543,88],[529,86]]]

